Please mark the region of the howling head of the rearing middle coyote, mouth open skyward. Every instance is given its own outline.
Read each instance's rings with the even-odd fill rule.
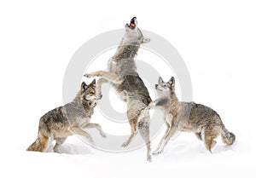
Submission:
[[[130,25],[125,25],[125,37],[123,38],[123,44],[142,44],[148,43],[150,39],[143,37],[143,33],[137,27],[137,18],[131,19]]]

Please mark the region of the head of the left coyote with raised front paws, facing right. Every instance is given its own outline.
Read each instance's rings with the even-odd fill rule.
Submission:
[[[99,100],[96,97],[96,79],[94,79],[89,85],[82,83],[80,87],[80,96],[82,101]]]

